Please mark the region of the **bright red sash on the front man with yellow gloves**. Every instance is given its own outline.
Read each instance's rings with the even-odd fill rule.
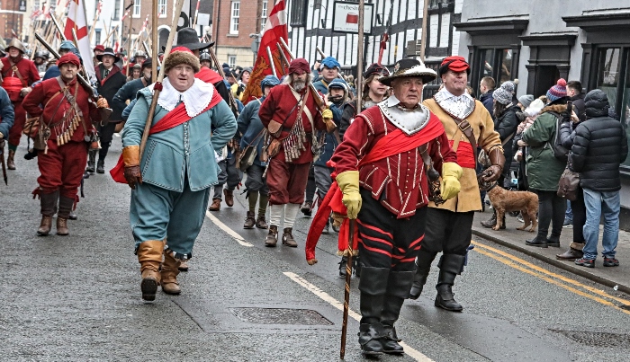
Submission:
[[[370,153],[361,159],[356,168],[359,170],[366,164],[375,163],[379,160],[383,160],[383,158],[403,154],[416,149],[440,136],[442,133],[444,133],[444,126],[434,115],[431,115],[428,125],[414,135],[408,136],[402,132],[401,129],[396,129],[387,136],[379,139],[370,150]],[[335,165],[329,162],[329,166],[334,167]],[[317,213],[311,223],[309,234],[306,237],[305,252],[307,261],[315,259],[315,247],[317,246],[317,242],[320,240],[321,232],[324,229],[324,225],[326,225],[330,212],[335,212],[340,215],[347,214],[346,206],[342,202],[343,196],[343,192],[339,189],[337,181],[335,181],[335,175],[333,175],[333,182],[332,185],[330,185],[329,192],[321,201],[320,207],[318,207]],[[349,234],[350,220],[345,218],[339,230],[339,253],[346,252]],[[352,246],[352,249],[356,250],[358,247],[358,231],[356,229],[354,240],[355,244]]]

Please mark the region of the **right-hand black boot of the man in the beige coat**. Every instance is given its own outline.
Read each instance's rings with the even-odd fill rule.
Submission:
[[[462,312],[464,309],[462,305],[455,301],[452,287],[455,284],[455,277],[461,274],[464,269],[465,260],[466,257],[464,255],[442,254],[442,258],[437,264],[440,268],[440,275],[436,286],[436,306],[453,312]]]

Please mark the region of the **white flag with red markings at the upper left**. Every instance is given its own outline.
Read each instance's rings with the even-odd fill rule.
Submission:
[[[87,37],[87,21],[85,20],[85,0],[70,0],[67,11],[66,29],[64,35],[67,40],[74,40],[72,30],[76,31],[76,41],[79,53],[83,60],[83,67],[90,80],[95,80],[94,63],[92,62],[92,49]]]

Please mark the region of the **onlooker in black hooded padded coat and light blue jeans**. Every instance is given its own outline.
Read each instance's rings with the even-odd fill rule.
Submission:
[[[575,129],[575,138],[569,154],[569,167],[580,172],[580,185],[584,191],[586,244],[581,259],[575,263],[587,268],[595,267],[599,239],[599,219],[604,216],[602,238],[604,266],[616,267],[615,258],[619,238],[619,165],[626,161],[628,145],[626,131],[621,123],[608,116],[608,97],[599,89],[584,97],[587,120]]]

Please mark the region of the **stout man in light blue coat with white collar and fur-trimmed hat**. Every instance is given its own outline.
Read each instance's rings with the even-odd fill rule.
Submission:
[[[166,294],[181,292],[178,267],[192,257],[210,187],[217,183],[214,152],[237,128],[214,86],[194,78],[200,64],[189,49],[173,49],[163,66],[166,77],[143,155],[139,144],[156,84],[139,92],[122,130],[124,179],[133,189],[130,225],[142,273],[142,298],[148,301],[155,299],[159,284]],[[116,177],[114,172],[112,176]]]

